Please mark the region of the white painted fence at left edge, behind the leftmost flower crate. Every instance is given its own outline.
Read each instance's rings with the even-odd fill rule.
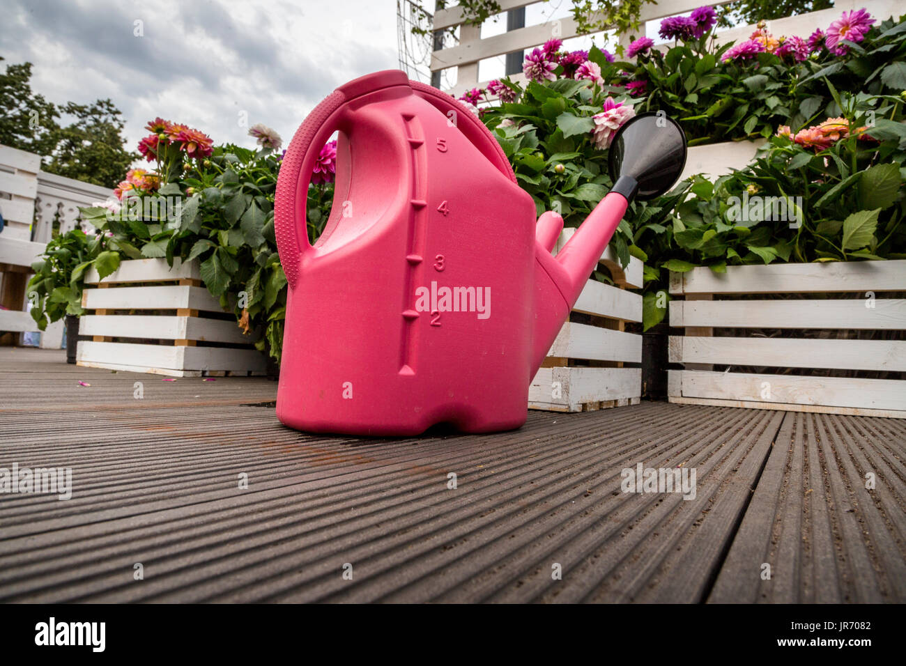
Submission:
[[[24,285],[30,266],[51,239],[54,221],[65,233],[79,223],[80,206],[90,206],[113,196],[113,190],[67,179],[41,170],[41,156],[0,146],[0,294],[8,310],[0,310],[0,333],[38,330],[25,310]],[[48,325],[41,346],[59,348],[63,322]]]

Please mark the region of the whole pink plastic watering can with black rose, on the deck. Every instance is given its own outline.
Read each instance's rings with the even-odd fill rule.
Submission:
[[[312,246],[306,192],[335,130],[333,210]],[[277,417],[355,435],[520,427],[528,386],[629,200],[670,188],[686,139],[642,114],[610,155],[612,191],[554,257],[563,218],[535,223],[503,150],[458,101],[395,70],[331,93],[277,180],[289,281]]]

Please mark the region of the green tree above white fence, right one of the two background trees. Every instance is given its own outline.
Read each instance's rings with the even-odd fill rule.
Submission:
[[[54,133],[53,150],[43,170],[115,188],[139,154],[123,148],[122,112],[110,100],[92,104],[68,102],[63,116],[75,121]]]

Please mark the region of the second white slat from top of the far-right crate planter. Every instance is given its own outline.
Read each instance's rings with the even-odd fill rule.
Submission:
[[[670,325],[901,330],[906,329],[906,299],[670,301]]]

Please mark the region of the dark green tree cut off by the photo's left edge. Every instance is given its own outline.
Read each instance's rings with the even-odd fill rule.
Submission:
[[[4,60],[0,56],[0,61]],[[53,102],[32,91],[32,63],[6,65],[0,73],[0,144],[47,155],[60,117]]]

